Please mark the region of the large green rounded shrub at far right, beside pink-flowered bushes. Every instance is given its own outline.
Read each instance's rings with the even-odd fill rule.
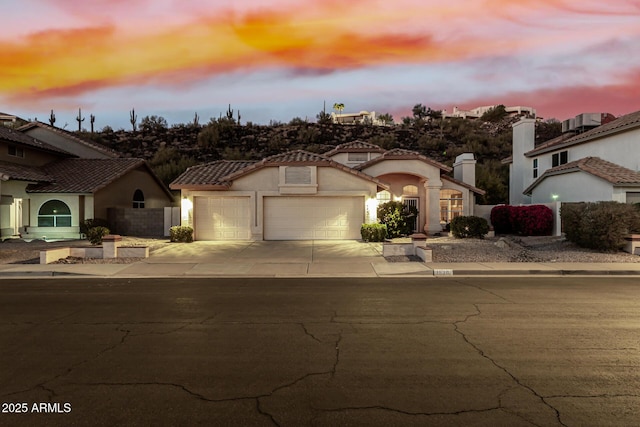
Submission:
[[[561,217],[567,240],[601,251],[620,250],[627,234],[640,231],[640,210],[625,203],[567,203]]]

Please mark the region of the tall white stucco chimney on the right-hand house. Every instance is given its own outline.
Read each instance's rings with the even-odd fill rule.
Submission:
[[[522,194],[533,182],[533,161],[524,153],[535,148],[536,120],[522,119],[513,124],[513,162],[509,169],[509,203],[512,205],[531,202],[529,196]]]

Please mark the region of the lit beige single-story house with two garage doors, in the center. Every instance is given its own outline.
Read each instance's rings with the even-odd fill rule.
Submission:
[[[359,239],[390,200],[419,210],[415,231],[435,233],[473,213],[475,160],[452,169],[419,153],[355,141],[324,155],[303,150],[261,161],[193,166],[170,187],[181,190],[182,223],[197,240]],[[466,182],[465,182],[466,181]]]

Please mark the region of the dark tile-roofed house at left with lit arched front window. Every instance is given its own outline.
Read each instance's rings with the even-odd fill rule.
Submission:
[[[77,145],[67,151],[0,126],[3,239],[78,238],[82,221],[106,219],[109,208],[171,206],[171,193],[144,160],[78,158],[71,151],[87,145]]]

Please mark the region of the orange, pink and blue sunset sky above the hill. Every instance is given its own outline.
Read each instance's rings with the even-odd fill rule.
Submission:
[[[640,1],[0,0],[0,111],[76,129],[240,110],[640,110]]]

